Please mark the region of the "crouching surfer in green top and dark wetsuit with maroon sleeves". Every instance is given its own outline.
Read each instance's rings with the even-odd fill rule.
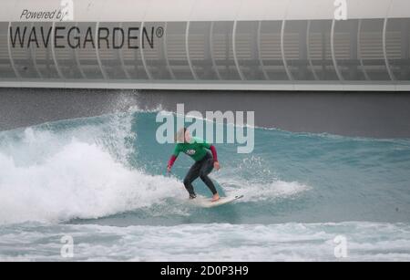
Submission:
[[[191,166],[190,171],[184,179],[185,189],[190,193],[190,199],[197,197],[195,194],[192,182],[200,178],[212,192],[211,202],[217,202],[220,200],[220,195],[218,194],[215,185],[210,180],[208,175],[210,172],[215,170],[220,170],[220,162],[218,161],[217,151],[213,145],[210,145],[205,140],[201,140],[196,137],[190,136],[190,131],[186,128],[178,131],[176,135],[177,146],[175,147],[174,153],[169,159],[167,170],[170,172],[172,166],[177,160],[179,153],[182,151],[192,158],[195,163]],[[212,154],[210,154],[210,151]]]

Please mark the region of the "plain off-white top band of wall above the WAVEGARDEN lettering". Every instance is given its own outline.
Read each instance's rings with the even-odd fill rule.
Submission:
[[[52,11],[60,7],[61,1],[0,0],[0,21],[20,21],[25,9]],[[90,22],[332,19],[335,10],[335,0],[72,1],[74,20]],[[410,17],[409,0],[345,1],[348,18]]]

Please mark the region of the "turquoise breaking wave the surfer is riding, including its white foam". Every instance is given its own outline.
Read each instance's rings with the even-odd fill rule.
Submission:
[[[157,110],[155,110],[157,111]],[[354,140],[255,129],[251,155],[217,145],[220,192],[244,199],[192,209],[181,183],[191,161],[165,175],[153,111],[68,119],[0,132],[0,223],[409,222],[408,140]],[[197,192],[210,195],[201,182]],[[149,222],[150,221],[150,222]],[[170,222],[169,222],[170,221]]]

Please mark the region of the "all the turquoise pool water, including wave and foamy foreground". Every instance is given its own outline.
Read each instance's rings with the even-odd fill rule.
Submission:
[[[216,144],[212,179],[244,199],[201,209],[180,182],[191,160],[166,174],[156,115],[0,132],[0,259],[62,260],[70,234],[74,260],[336,260],[342,234],[346,260],[410,260],[410,140],[256,128],[251,154]]]

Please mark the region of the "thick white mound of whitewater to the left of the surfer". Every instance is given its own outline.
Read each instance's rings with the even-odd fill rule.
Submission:
[[[0,223],[97,218],[181,192],[179,181],[130,171],[96,144],[77,140],[31,166],[0,154]]]

